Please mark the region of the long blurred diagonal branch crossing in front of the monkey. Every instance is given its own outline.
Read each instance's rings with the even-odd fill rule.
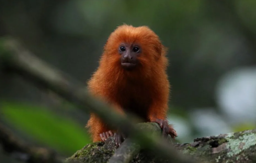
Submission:
[[[110,107],[93,98],[81,83],[72,80],[64,73],[54,70],[37,57],[30,54],[18,42],[13,39],[4,39],[0,42],[0,60],[4,61],[6,67],[14,73],[29,79],[40,88],[50,89],[59,96],[74,103],[78,108],[94,112],[110,127],[120,128],[124,133],[129,133],[129,137],[136,140],[142,148],[149,149],[155,154],[176,163],[193,163],[193,159],[188,159],[178,153],[168,143],[160,141],[151,134],[145,134],[137,129],[131,118],[119,115],[115,111],[110,111]]]

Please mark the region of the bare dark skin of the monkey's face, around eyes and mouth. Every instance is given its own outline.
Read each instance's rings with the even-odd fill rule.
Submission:
[[[141,53],[141,48],[136,44],[121,44],[119,54],[121,55],[121,66],[127,70],[133,70],[138,65],[137,56]]]

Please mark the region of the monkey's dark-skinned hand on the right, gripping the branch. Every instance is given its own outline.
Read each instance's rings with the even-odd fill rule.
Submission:
[[[156,122],[159,124],[159,126],[162,129],[162,134],[164,137],[167,137],[168,134],[170,134],[170,136],[175,139],[175,137],[177,137],[177,133],[175,131],[175,129],[172,127],[172,125],[168,124],[167,120],[164,119],[156,119],[155,121],[152,122]]]

